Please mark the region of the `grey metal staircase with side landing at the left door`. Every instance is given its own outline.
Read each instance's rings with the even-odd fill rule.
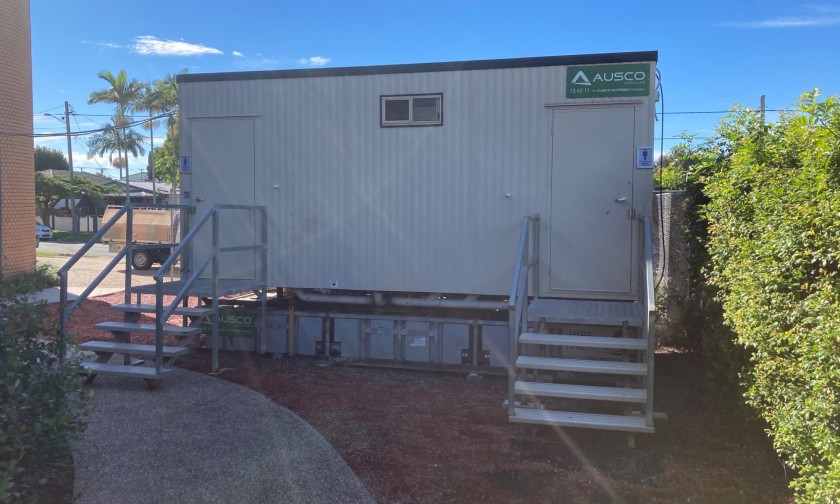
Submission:
[[[70,315],[88,298],[93,290],[104,278],[121,262],[125,261],[125,302],[112,306],[113,310],[123,313],[122,322],[106,321],[94,327],[109,331],[113,335],[111,341],[88,341],[78,345],[80,350],[87,350],[96,354],[95,361],[82,363],[83,371],[88,373],[88,381],[93,381],[97,375],[116,375],[142,378],[150,389],[156,388],[170,373],[175,360],[188,352],[187,345],[191,339],[201,332],[201,323],[208,322],[212,328],[210,341],[213,350],[213,370],[218,368],[219,350],[219,297],[237,292],[253,290],[262,301],[265,320],[266,300],[266,254],[267,254],[267,221],[265,207],[242,205],[213,205],[208,211],[191,225],[191,211],[193,207],[175,205],[144,205],[148,208],[181,210],[184,225],[184,236],[180,243],[138,245],[133,244],[133,212],[135,206],[131,203],[120,209],[106,224],[102,226],[90,241],[85,244],[59,270],[61,280],[59,298],[59,338],[70,341],[68,321]],[[225,247],[219,243],[219,214],[227,210],[250,211],[254,214],[253,244],[244,246]],[[79,259],[87,253],[94,243],[118,221],[125,222],[126,246],[118,252],[114,259],[94,279],[94,281],[72,303],[68,302],[68,275]],[[259,223],[259,225],[258,225]],[[195,267],[190,266],[192,244],[196,236],[205,230],[210,235],[210,247],[206,256],[196,261]],[[154,275],[155,283],[146,286],[132,285],[131,258],[134,251],[142,248],[171,247],[172,253],[160,266]],[[226,281],[221,278],[219,271],[219,257],[228,252],[255,250],[261,254],[261,267],[255,269],[254,279]],[[202,251],[204,252],[204,251]],[[166,272],[176,261],[181,260],[181,278],[177,281],[165,281]],[[131,302],[132,294],[136,295],[135,302]],[[142,304],[142,294],[153,294],[154,304]],[[167,302],[164,297],[168,296]],[[191,296],[209,299],[209,304],[198,307],[188,307]],[[154,317],[154,323],[140,323],[141,316],[147,314]],[[171,317],[181,317],[181,325],[172,325],[168,321]],[[263,328],[264,329],[264,328]],[[154,344],[140,344],[132,341],[132,335],[152,334]],[[262,332],[264,334],[264,332]],[[113,359],[115,355],[122,355],[122,359]]]

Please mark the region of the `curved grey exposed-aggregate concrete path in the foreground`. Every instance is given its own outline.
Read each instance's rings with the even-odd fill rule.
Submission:
[[[100,376],[74,442],[77,504],[373,503],[308,423],[245,387],[175,370]]]

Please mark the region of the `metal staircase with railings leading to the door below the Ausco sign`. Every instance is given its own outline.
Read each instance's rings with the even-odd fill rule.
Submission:
[[[603,301],[528,296],[539,216],[523,220],[508,306],[511,422],[623,431],[630,446],[633,433],[654,432],[653,257],[650,219],[639,222],[642,299]]]

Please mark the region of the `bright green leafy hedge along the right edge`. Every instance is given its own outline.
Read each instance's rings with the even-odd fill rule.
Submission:
[[[797,498],[840,502],[840,105],[806,93],[775,123],[739,109],[710,146],[708,280],[749,351],[747,402]]]

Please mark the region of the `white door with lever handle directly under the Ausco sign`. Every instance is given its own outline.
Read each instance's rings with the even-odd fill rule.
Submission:
[[[549,295],[629,298],[636,108],[552,111]]]

